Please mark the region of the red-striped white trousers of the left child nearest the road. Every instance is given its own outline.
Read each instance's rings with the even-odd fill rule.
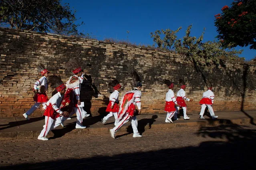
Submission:
[[[58,125],[60,125],[61,123],[61,118],[58,117],[56,119],[52,119],[51,117],[45,116],[44,121],[45,125],[43,126],[44,128],[39,134],[39,137],[45,137],[50,130],[58,127]]]

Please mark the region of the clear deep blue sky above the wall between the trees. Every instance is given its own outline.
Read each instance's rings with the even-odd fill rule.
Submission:
[[[131,43],[152,45],[150,32],[167,29],[182,30],[177,34],[182,38],[187,26],[192,24],[191,36],[199,37],[204,28],[204,41],[213,41],[217,36],[214,15],[221,8],[230,6],[233,0],[62,0],[77,10],[79,22],[85,22],[79,31],[89,33],[98,40],[114,38],[129,40]],[[129,34],[127,34],[129,31]],[[256,50],[244,49],[240,57],[250,60],[256,57]]]

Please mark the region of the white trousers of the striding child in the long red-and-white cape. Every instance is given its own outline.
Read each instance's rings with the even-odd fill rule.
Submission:
[[[117,130],[119,130],[119,128],[121,128],[123,125],[125,125],[125,123],[127,123],[129,120],[131,120],[131,127],[133,128],[133,134],[138,134],[138,120],[136,118],[136,116],[131,117],[129,116],[129,114],[126,114],[125,117],[119,121],[119,123],[117,123],[117,125],[113,128],[114,133],[117,132]]]

